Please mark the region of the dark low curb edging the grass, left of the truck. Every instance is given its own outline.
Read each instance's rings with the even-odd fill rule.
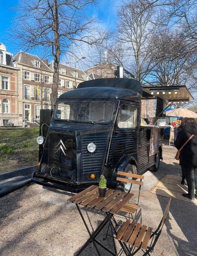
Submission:
[[[6,180],[17,176],[23,176],[27,174],[32,174],[32,172],[38,170],[37,165],[28,166],[22,169],[14,170],[11,172],[4,172],[0,174],[0,180]]]

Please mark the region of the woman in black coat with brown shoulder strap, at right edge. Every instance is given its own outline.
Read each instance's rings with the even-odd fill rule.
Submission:
[[[184,197],[194,200],[197,197],[197,123],[194,118],[183,118],[182,129],[178,132],[174,145],[180,149],[194,134],[193,138],[180,151],[179,164],[188,183],[188,194]]]

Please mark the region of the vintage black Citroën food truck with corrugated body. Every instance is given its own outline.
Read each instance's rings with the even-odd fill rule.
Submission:
[[[140,125],[141,98],[140,82],[128,78],[89,80],[61,94],[47,135],[37,139],[42,157],[32,181],[77,193],[101,174],[114,187],[117,171],[157,171],[163,127]]]

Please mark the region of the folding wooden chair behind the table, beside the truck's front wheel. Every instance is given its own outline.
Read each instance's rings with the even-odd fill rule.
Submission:
[[[121,177],[119,177],[119,176],[121,176]],[[128,177],[128,179],[123,178],[123,177]],[[133,179],[135,179],[135,180],[133,180]],[[140,179],[140,181],[138,181],[138,179]],[[143,181],[142,181],[143,179],[144,179],[144,176],[142,176],[142,175],[127,173],[127,172],[117,172],[116,180],[121,181],[121,183],[123,183],[123,185],[124,185],[124,183],[131,183],[131,184],[139,185],[139,193],[138,193],[137,204],[127,203],[120,209],[122,212],[129,213],[129,217],[130,217],[130,214],[131,214],[131,217],[132,217],[133,221],[135,220],[137,210],[140,207],[139,206],[139,200],[140,200],[141,186],[143,185]],[[130,187],[128,193],[130,193],[130,191],[131,191],[131,187]],[[134,213],[135,213],[135,217],[133,218]]]

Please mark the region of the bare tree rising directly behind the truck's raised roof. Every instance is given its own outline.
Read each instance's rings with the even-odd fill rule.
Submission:
[[[117,38],[124,44],[130,62],[125,66],[143,81],[150,72],[152,63],[152,37],[161,25],[153,9],[146,8],[139,0],[123,1],[118,11]]]

